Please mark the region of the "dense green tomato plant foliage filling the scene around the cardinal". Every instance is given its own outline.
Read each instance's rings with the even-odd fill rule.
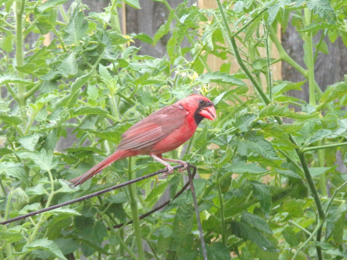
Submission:
[[[188,144],[166,156],[198,167],[202,179],[194,185],[208,258],[347,258],[347,176],[337,167],[347,164],[347,80],[323,93],[316,87],[315,52],[327,53],[327,38],[312,42],[324,33],[347,46],[346,1],[217,0],[216,9],[183,1],[153,38],[121,34],[121,1],[89,14],[82,1],[69,10],[61,6],[66,2],[0,0],[1,220],[159,170],[137,156],[79,188],[65,181],[110,155],[139,119],[194,88],[214,102],[218,117],[202,121]],[[138,0],[123,2],[141,8]],[[277,39],[278,24],[285,31],[290,15],[305,43],[306,68]],[[29,33],[37,40],[23,45]],[[44,46],[47,33],[54,37]],[[139,55],[130,46],[133,39],[155,45],[165,35],[167,57]],[[269,54],[270,41],[279,59]],[[211,57],[222,62],[216,71]],[[308,81],[308,103],[289,95],[305,81],[272,79],[270,66],[279,61]],[[236,62],[239,71],[230,73]],[[68,136],[75,141],[58,149]],[[146,179],[2,225],[0,259],[201,259],[192,193],[175,198],[183,175]],[[169,205],[140,219],[166,190]],[[134,224],[120,225],[129,220]]]

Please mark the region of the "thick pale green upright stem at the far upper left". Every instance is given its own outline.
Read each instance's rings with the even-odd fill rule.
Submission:
[[[16,62],[17,66],[23,66],[23,14],[24,14],[25,0],[16,1]],[[17,70],[17,75],[24,78],[24,73]],[[18,83],[18,104],[19,107],[26,105],[25,99],[25,85]]]

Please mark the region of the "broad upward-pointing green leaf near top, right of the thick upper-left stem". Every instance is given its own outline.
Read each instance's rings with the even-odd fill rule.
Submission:
[[[88,21],[84,20],[83,12],[78,11],[78,8],[76,8],[65,29],[64,43],[79,45],[78,42],[85,36],[87,29]]]

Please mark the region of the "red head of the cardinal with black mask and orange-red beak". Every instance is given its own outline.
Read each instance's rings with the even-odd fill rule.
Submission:
[[[214,121],[217,117],[213,103],[205,96],[193,94],[182,101],[185,101],[186,109],[194,113],[196,124],[199,124],[203,118]]]

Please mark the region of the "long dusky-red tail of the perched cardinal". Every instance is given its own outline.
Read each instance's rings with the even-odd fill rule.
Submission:
[[[77,185],[82,184],[83,182],[90,179],[98,172],[100,172],[103,168],[105,168],[110,163],[117,161],[117,160],[120,160],[120,159],[123,159],[123,158],[126,158],[128,156],[133,156],[132,153],[133,153],[133,151],[129,151],[129,150],[116,151],[115,153],[113,153],[112,155],[110,155],[109,157],[104,159],[102,162],[95,165],[93,168],[91,168],[86,173],[82,174],[81,176],[78,176],[76,179],[70,180],[69,181],[69,182],[71,182],[70,185],[73,187],[76,187]]]

